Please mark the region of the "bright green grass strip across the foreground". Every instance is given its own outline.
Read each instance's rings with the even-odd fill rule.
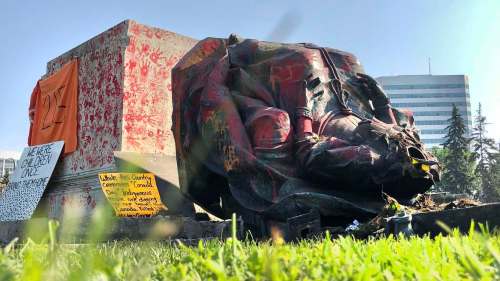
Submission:
[[[500,280],[499,235],[278,244],[11,243],[0,280]]]

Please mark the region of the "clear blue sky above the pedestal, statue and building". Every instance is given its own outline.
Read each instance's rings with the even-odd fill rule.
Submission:
[[[0,150],[21,150],[47,61],[124,19],[197,39],[312,42],[352,52],[372,76],[467,74],[500,140],[500,0],[15,1],[0,9]],[[275,32],[277,26],[281,32]]]

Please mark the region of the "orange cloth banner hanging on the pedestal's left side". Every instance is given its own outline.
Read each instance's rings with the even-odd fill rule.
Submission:
[[[28,144],[64,141],[64,154],[78,145],[78,61],[66,63],[39,80],[31,94]]]

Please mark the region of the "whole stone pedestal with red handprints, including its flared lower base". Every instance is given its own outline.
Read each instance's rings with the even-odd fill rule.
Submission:
[[[97,174],[117,170],[116,152],[171,156],[175,163],[170,72],[196,42],[126,20],[48,62],[46,76],[79,59],[78,149],[56,167],[38,215],[60,218],[64,210],[91,212],[106,204]],[[176,188],[176,179],[158,180],[162,189]],[[193,212],[179,198],[184,207],[170,212]]]

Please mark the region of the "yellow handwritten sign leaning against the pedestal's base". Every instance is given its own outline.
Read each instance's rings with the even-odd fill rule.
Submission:
[[[99,182],[119,217],[150,217],[167,209],[151,173],[101,173]]]

